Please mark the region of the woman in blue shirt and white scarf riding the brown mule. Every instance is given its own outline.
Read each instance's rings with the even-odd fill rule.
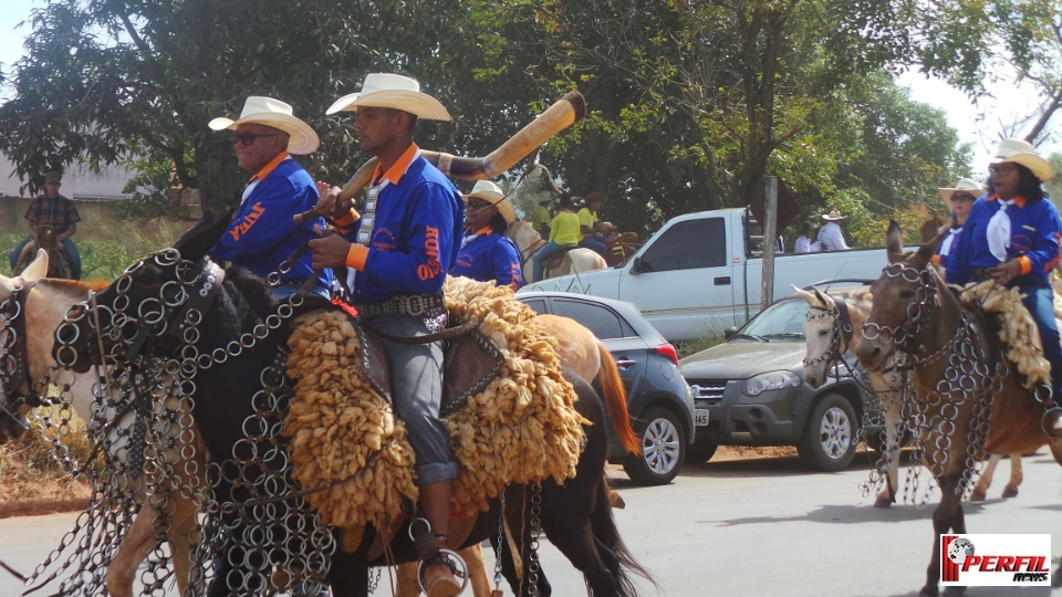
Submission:
[[[988,171],[988,193],[970,208],[947,261],[947,281],[967,284],[991,277],[1019,289],[1040,331],[1043,356],[1051,363],[1053,395],[1062,396],[1062,345],[1051,289],[1062,222],[1042,187],[1054,171],[1021,139],[1001,140]],[[1062,436],[1062,409],[1050,409],[1043,426],[1050,437]]]

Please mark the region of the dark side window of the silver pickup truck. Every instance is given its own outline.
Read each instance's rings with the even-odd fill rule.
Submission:
[[[666,272],[727,264],[727,231],[722,218],[679,222],[646,249],[642,271]]]

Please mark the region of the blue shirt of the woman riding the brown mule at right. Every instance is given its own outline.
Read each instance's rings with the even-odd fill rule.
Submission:
[[[988,222],[999,211],[1000,200],[996,195],[981,197],[974,202],[962,232],[956,238],[948,255],[947,280],[951,284],[966,284],[974,280],[975,268],[991,268],[1000,261],[988,248]],[[1008,259],[1017,259],[1021,274],[1014,279],[1016,286],[1050,286],[1051,270],[1059,263],[1059,238],[1062,223],[1059,212],[1047,198],[1027,201],[1018,197],[1007,208],[1010,218],[1010,247]]]

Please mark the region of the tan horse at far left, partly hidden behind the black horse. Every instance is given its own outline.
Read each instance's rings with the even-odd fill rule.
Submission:
[[[54,344],[53,332],[63,321],[66,311],[74,304],[83,301],[90,291],[102,290],[101,284],[90,285],[72,280],[54,280],[44,277],[49,271],[49,253],[39,250],[37,258],[31,261],[18,277],[0,275],[0,305],[10,307],[22,317],[24,324],[19,324],[15,317],[4,317],[0,333],[7,337],[24,334],[24,342],[11,347],[4,356],[15,363],[24,364],[21,374],[20,387],[13,387],[4,378],[0,384],[0,418],[7,419],[0,425],[0,444],[10,437],[17,439],[25,428],[21,420],[27,416],[30,405],[39,405],[39,396],[43,395],[51,383],[59,383],[54,371],[58,364],[52,356]],[[24,354],[19,354],[19,350]],[[96,398],[93,395],[94,375],[72,374],[62,377],[66,386],[63,398],[69,399],[74,412],[86,423],[93,419]],[[133,421],[124,416],[119,428],[128,428]],[[12,432],[12,429],[15,432]],[[174,471],[180,478],[180,486],[195,488],[189,474],[202,470],[202,449],[196,449],[195,430],[189,436],[177,436],[175,450],[189,455],[194,462],[190,465],[175,467]],[[189,449],[190,448],[190,449]],[[112,442],[106,454],[108,459],[126,460],[128,447],[122,441]],[[174,458],[171,453],[171,458]],[[132,471],[131,471],[132,472]],[[143,471],[137,471],[142,473]],[[197,507],[192,495],[188,492],[173,491],[168,503],[146,499],[149,491],[138,474],[121,474],[111,479],[112,483],[122,483],[132,491],[140,503],[139,511],[133,520],[128,532],[118,544],[117,554],[107,563],[106,587],[114,597],[132,597],[133,579],[137,567],[156,543],[156,533],[164,526],[168,527],[168,541],[174,562],[177,587],[184,594],[188,586],[188,570],[191,568],[191,548],[196,537]],[[201,485],[201,484],[200,484]],[[159,510],[156,510],[158,507]]]

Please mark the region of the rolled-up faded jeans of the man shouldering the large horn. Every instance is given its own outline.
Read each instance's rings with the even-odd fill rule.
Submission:
[[[423,336],[427,326],[412,315],[373,315],[365,324],[392,336]],[[395,415],[406,423],[416,455],[413,470],[417,485],[430,485],[457,476],[450,454],[450,432],[439,409],[442,404],[442,346],[396,344],[382,341],[391,362],[391,390]]]

